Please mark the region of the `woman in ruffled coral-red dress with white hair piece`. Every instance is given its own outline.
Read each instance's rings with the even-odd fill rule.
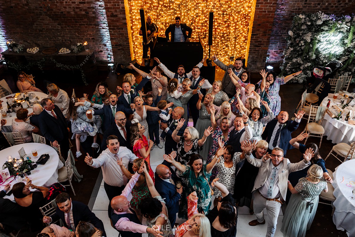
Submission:
[[[155,183],[154,172],[152,171],[151,162],[150,162],[150,158],[151,158],[150,153],[154,145],[154,142],[150,140],[148,144],[148,140],[146,136],[143,135],[146,129],[144,129],[144,126],[138,123],[138,121],[135,121],[135,119],[132,120],[132,126],[130,129],[131,129],[131,143],[133,146],[133,153],[138,158],[143,158],[145,161],[147,161],[149,166],[149,176],[152,177],[152,180]]]

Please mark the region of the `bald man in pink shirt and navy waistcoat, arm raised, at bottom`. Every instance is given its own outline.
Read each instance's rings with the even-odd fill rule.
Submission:
[[[142,225],[136,212],[130,208],[129,200],[127,200],[142,172],[143,167],[140,167],[138,172],[132,176],[122,194],[111,200],[111,208],[113,210],[111,211],[110,219],[112,225],[120,232],[122,237],[142,237],[142,233],[151,233],[155,237],[162,237],[160,235],[162,232],[154,231],[153,228]]]

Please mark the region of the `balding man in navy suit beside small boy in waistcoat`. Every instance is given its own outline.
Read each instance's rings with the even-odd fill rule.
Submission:
[[[173,134],[173,131],[176,128],[176,125],[178,125],[178,120],[182,118],[182,115],[184,115],[184,108],[182,107],[176,107],[173,112],[171,112],[171,117],[169,124],[168,123],[160,123],[160,129],[164,130],[166,132],[166,137],[165,137],[165,154],[170,154],[171,151],[176,150],[178,143],[174,141],[174,139],[171,137],[171,134]],[[179,129],[178,136],[182,136],[184,134],[186,128],[186,123]],[[164,160],[164,162],[166,162]],[[163,164],[164,164],[163,162]]]

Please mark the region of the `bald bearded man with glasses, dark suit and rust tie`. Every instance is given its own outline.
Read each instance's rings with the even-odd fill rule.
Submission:
[[[132,144],[131,144],[131,127],[132,123],[130,120],[127,120],[126,115],[122,111],[118,111],[115,114],[115,123],[113,123],[104,133],[102,138],[101,149],[105,150],[107,148],[106,139],[111,136],[115,135],[118,137],[118,141],[121,147],[127,147],[131,151]]]

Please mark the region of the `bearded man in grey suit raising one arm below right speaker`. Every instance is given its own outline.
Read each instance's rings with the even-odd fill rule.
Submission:
[[[242,73],[245,71],[243,66],[243,61],[240,57],[234,60],[234,65],[225,65],[223,62],[219,61],[216,57],[216,55],[213,55],[213,61],[214,63],[220,67],[222,70],[225,71],[223,79],[222,79],[222,86],[223,86],[223,91],[227,93],[229,98],[232,98],[235,95],[235,86],[233,82],[230,80],[229,73],[228,73],[228,68],[232,68],[233,72],[235,75],[239,78],[241,78]]]

